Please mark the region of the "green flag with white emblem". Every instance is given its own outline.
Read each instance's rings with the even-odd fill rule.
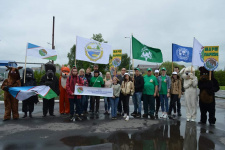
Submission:
[[[163,62],[160,49],[148,47],[132,36],[132,54],[133,59],[139,59],[148,62]]]

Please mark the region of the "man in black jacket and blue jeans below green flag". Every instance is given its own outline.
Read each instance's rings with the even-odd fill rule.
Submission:
[[[142,97],[142,92],[144,89],[144,78],[140,74],[139,68],[135,68],[134,70],[135,70],[135,75],[134,75],[135,92],[132,97],[133,103],[134,103],[134,112],[131,115],[134,117],[140,118],[141,109],[142,109],[141,97]]]

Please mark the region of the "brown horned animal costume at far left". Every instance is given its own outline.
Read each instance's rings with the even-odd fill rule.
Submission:
[[[4,104],[5,104],[4,121],[11,119],[11,112],[13,119],[17,120],[19,119],[18,100],[15,99],[9,93],[9,87],[21,86],[19,69],[22,69],[23,67],[18,68],[8,66],[6,67],[7,67],[6,71],[9,70],[8,79],[5,79],[1,86],[1,89],[4,90]]]

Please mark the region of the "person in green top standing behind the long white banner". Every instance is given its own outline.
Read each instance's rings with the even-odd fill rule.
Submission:
[[[91,78],[90,86],[91,87],[104,87],[103,78],[100,76],[100,73],[98,70],[94,71],[94,76]],[[96,107],[95,107],[95,103],[96,103]],[[92,114],[94,112],[96,113],[96,115],[99,114],[99,103],[100,103],[100,96],[91,96],[91,112],[92,112]]]

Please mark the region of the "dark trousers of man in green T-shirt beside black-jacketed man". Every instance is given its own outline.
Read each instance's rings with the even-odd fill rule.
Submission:
[[[155,113],[155,98],[153,95],[143,94],[144,113],[154,115]]]

